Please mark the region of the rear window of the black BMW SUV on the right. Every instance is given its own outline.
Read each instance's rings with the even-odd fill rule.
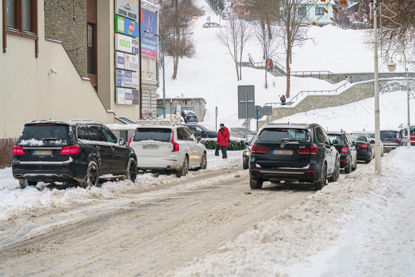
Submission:
[[[283,139],[306,142],[310,136],[306,129],[264,129],[259,135],[259,142],[283,142]]]

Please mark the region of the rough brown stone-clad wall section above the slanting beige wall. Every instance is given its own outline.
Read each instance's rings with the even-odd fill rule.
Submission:
[[[44,0],[44,5],[45,38],[62,41],[79,74],[87,77],[86,0]]]

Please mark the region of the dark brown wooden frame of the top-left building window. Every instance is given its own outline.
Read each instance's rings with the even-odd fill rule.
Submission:
[[[3,15],[3,53],[6,53],[7,35],[24,37],[35,40],[35,56],[38,57],[38,0],[30,0],[30,31],[23,30],[23,1],[15,1],[15,28],[7,27],[6,18],[6,0],[2,0],[2,15]]]

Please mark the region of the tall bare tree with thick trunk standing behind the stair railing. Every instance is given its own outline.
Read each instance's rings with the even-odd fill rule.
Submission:
[[[292,49],[295,46],[302,46],[308,39],[313,40],[313,38],[307,37],[308,27],[302,26],[302,24],[310,22],[308,15],[312,5],[309,3],[313,3],[314,1],[281,0],[279,5],[273,7],[272,10],[275,17],[278,16],[280,28],[278,29],[277,36],[282,39],[282,44],[285,48],[285,66],[287,71],[285,96],[287,98],[290,97],[291,88],[290,64],[292,62]]]

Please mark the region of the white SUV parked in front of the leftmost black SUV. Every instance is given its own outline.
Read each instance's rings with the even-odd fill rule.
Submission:
[[[183,125],[146,125],[135,129],[130,147],[137,156],[138,170],[176,170],[177,176],[189,168],[206,169],[206,147]]]

